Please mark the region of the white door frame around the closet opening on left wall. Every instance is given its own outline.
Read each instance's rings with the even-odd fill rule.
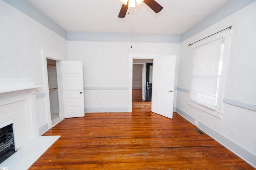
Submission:
[[[48,82],[48,70],[47,70],[47,59],[56,61],[56,72],[57,72],[57,87],[58,87],[58,100],[59,100],[59,117],[64,118],[64,106],[62,97],[62,83],[61,83],[61,68],[60,61],[64,60],[64,57],[51,53],[45,50],[41,50],[43,73],[44,73],[44,92],[45,92],[45,103],[47,111],[48,129],[52,128],[51,111],[50,111],[50,95],[49,95],[49,82]]]

